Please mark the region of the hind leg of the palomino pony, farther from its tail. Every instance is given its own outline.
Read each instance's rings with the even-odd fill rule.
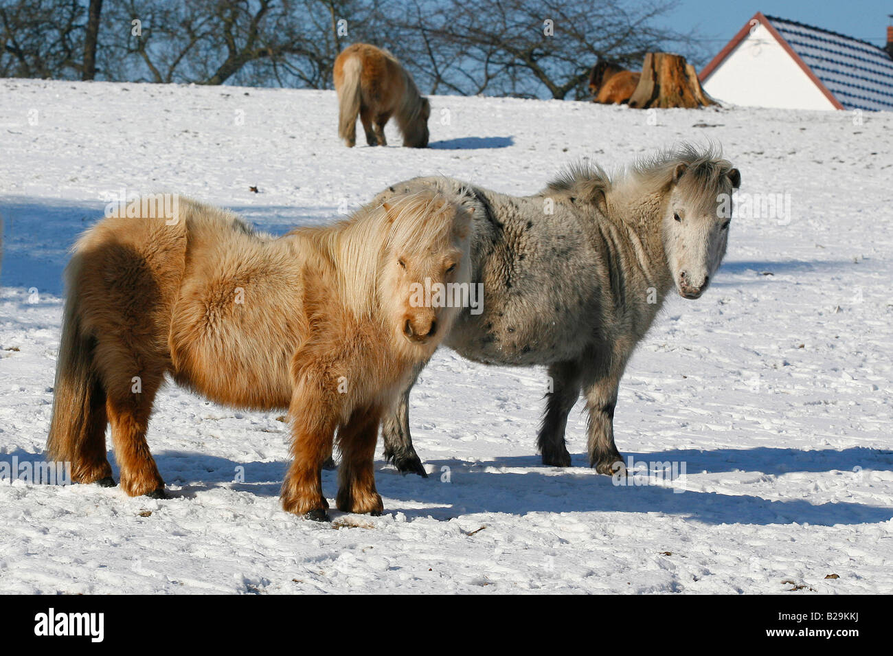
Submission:
[[[164,498],[164,481],[158,473],[146,431],[155,394],[161,386],[163,374],[133,370],[128,376],[123,370],[111,384],[106,383],[105,411],[112,426],[114,457],[121,469],[121,489],[130,496],[147,494]]]

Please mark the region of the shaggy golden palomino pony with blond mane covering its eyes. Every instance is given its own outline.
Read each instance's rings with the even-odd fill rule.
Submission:
[[[455,319],[411,303],[413,285],[471,275],[471,212],[422,189],[328,227],[255,233],[230,212],[143,199],[90,228],[66,271],[47,453],[80,483],[164,496],[146,444],[166,374],[216,403],[288,409],[286,511],[327,519],[321,466],[338,431],[337,506],[380,514],[372,458],[380,415]]]

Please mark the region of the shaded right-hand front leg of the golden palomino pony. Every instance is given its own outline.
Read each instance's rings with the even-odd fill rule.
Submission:
[[[373,466],[380,417],[380,409],[362,408],[338,430],[338,450],[342,454],[336,499],[339,511],[371,515],[384,511],[381,496],[375,489]]]

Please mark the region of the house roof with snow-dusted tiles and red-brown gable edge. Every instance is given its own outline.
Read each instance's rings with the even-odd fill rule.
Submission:
[[[754,21],[763,23],[839,109],[893,111],[893,59],[882,48],[828,29],[756,12],[698,76],[702,81],[747,37]]]

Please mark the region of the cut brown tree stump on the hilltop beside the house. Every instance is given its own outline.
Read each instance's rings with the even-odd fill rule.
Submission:
[[[695,67],[680,54],[648,53],[630,107],[705,107],[715,104],[701,87]]]

